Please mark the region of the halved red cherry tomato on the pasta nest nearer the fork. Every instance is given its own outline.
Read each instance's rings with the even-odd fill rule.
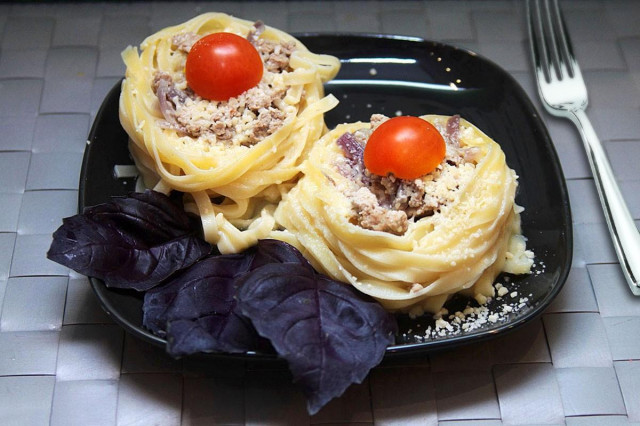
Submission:
[[[364,165],[376,175],[417,179],[438,167],[445,153],[444,138],[431,123],[418,117],[394,117],[369,136]]]

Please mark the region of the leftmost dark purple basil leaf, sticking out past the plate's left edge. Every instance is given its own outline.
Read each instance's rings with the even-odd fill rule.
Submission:
[[[148,290],[211,251],[188,215],[169,204],[149,191],[65,218],[47,257],[108,287]],[[164,207],[169,215],[159,212]]]

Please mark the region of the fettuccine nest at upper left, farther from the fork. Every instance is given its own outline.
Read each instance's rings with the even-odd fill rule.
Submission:
[[[326,132],[323,114],[337,105],[335,97],[324,95],[323,83],[337,74],[338,59],[314,54],[291,35],[264,26],[260,38],[295,43],[288,68],[265,69],[263,75],[263,82],[284,90],[277,105],[281,126],[251,145],[212,142],[167,126],[152,86],[158,72],[177,80],[184,76],[186,54],[176,51],[172,38],[222,31],[246,37],[253,30],[253,22],[206,13],[149,36],[140,51],[130,46],[122,53],[120,121],[145,185],[184,192],[185,208],[202,218],[205,239],[222,253],[242,251],[269,235],[275,206],[298,177],[312,143]]]

